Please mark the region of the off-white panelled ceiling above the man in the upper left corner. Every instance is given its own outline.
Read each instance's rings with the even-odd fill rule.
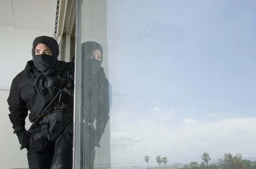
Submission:
[[[0,26],[54,34],[57,0],[0,0]]]

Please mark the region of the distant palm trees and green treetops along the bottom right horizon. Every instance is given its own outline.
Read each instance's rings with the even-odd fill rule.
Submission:
[[[208,152],[204,152],[201,158],[201,163],[192,161],[189,165],[185,165],[180,169],[256,169],[256,161],[243,160],[241,153],[235,155],[232,155],[230,152],[224,153],[223,158],[219,158],[218,163],[213,164],[209,164],[211,158]],[[146,155],[144,160],[148,166],[148,161],[150,160],[149,156]],[[161,163],[163,163],[166,168],[166,163],[168,162],[167,157],[161,158],[161,156],[157,156],[156,162],[159,164],[160,168]]]

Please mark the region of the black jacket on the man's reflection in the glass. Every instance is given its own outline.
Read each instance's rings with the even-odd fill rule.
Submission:
[[[96,142],[99,143],[110,118],[111,85],[103,68],[95,76],[86,75],[85,70],[81,74],[81,84],[83,84],[81,86],[81,118],[87,118],[85,124],[93,124],[96,120],[96,128],[93,132]]]

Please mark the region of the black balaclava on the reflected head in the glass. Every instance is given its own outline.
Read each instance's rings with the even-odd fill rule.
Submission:
[[[102,65],[102,59],[101,61],[92,58],[92,59],[86,59],[87,55],[90,54],[93,50],[98,49],[101,54],[102,54],[102,59],[103,59],[103,48],[102,45],[100,45],[97,42],[93,42],[93,41],[88,41],[88,42],[84,42],[82,43],[81,46],[81,52],[82,52],[82,60],[84,62],[84,64],[86,64],[86,71],[87,74],[90,75],[96,75]]]

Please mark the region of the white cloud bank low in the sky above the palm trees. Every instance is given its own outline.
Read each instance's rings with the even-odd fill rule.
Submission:
[[[121,113],[111,114],[111,139],[122,137],[119,140],[125,142],[127,138],[130,142],[125,143],[132,144],[125,154],[121,147],[114,149],[111,163],[125,163],[125,158],[143,162],[144,155],[152,159],[164,155],[170,163],[200,161],[202,152],[209,152],[212,160],[228,151],[256,156],[254,117],[227,118],[216,122],[198,121],[190,117],[178,120],[173,113],[160,108],[157,113],[128,114],[129,117],[125,118]]]

